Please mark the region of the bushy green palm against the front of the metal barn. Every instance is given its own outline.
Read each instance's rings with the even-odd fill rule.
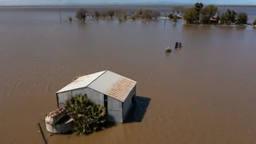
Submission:
[[[77,134],[88,134],[101,129],[106,121],[106,109],[94,105],[84,95],[74,95],[66,101],[66,113],[74,119],[74,131]]]

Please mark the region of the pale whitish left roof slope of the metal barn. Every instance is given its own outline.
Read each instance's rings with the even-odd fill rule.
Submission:
[[[65,92],[65,91],[70,91],[70,90],[75,90],[75,89],[79,89],[79,88],[82,88],[82,87],[86,87],[87,85],[92,83],[95,79],[97,79],[99,76],[101,76],[105,72],[106,72],[106,70],[100,71],[98,73],[90,74],[90,75],[81,76],[81,77],[77,78],[75,81],[73,81],[70,84],[68,84],[67,86],[63,87],[61,90],[59,90],[56,93]]]

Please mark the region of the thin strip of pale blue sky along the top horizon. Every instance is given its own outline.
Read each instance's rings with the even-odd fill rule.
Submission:
[[[0,5],[65,5],[65,4],[245,4],[256,5],[256,0],[0,0]]]

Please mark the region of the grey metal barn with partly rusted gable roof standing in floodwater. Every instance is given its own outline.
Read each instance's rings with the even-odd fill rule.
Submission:
[[[123,123],[134,105],[136,84],[109,70],[81,76],[56,93],[58,107],[64,106],[72,95],[83,94],[93,103],[106,107],[109,122]]]

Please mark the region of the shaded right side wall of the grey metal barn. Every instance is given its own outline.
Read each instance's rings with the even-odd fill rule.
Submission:
[[[129,93],[127,98],[124,101],[124,106],[123,106],[123,120],[125,120],[127,114],[129,114],[131,106],[132,106],[132,97],[135,95],[136,99],[136,85],[133,87],[132,91]]]

